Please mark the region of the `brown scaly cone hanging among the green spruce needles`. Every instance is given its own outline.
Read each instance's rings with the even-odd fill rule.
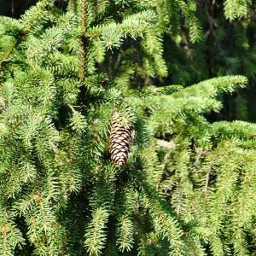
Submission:
[[[123,125],[119,113],[114,112],[110,131],[109,152],[116,166],[124,166],[127,161],[131,145],[131,134],[132,126]]]

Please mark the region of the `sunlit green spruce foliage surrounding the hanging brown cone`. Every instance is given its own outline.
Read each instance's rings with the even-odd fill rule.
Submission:
[[[204,39],[196,1],[65,3],[0,18],[1,255],[253,255],[256,125],[207,120],[247,79],[163,86],[164,44]]]

